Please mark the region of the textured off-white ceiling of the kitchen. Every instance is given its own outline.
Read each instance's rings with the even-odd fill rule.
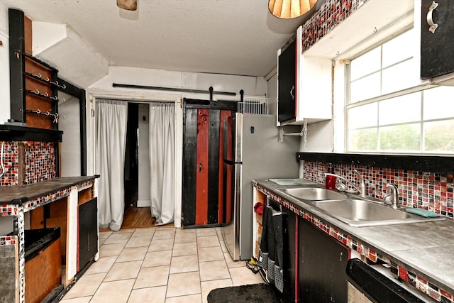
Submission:
[[[321,2],[321,1],[319,1]],[[33,21],[65,23],[110,65],[265,77],[307,16],[272,16],[266,0],[2,0]]]

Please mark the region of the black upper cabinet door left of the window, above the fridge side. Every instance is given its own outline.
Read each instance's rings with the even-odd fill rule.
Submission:
[[[296,40],[288,45],[278,59],[278,120],[286,121],[295,118],[295,100],[297,96],[296,75]]]

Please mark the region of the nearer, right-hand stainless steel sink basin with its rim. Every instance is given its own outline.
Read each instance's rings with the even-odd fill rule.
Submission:
[[[420,221],[436,221],[444,218],[426,218],[409,214],[406,211],[392,209],[389,206],[368,202],[361,199],[342,199],[315,201],[311,205],[326,214],[343,221],[350,226],[379,226],[406,224]]]

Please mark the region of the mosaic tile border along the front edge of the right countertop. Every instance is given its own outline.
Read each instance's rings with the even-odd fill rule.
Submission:
[[[351,238],[350,235],[348,235],[347,233],[343,233],[342,231],[339,231],[337,228],[334,228],[333,226],[328,225],[325,222],[321,221],[316,216],[309,214],[306,211],[299,209],[298,207],[295,207],[294,204],[287,202],[287,200],[277,196],[269,189],[260,186],[260,184],[258,184],[257,182],[254,181],[253,186],[257,187],[257,189],[260,192],[269,196],[271,199],[273,199],[273,201],[282,204],[282,206],[286,207],[287,209],[290,209],[301,218],[305,219],[306,221],[309,221],[312,225],[319,228],[321,231],[324,231],[332,238],[335,238],[340,243],[343,243],[344,246],[347,246],[348,248],[355,250],[360,255],[371,260],[373,263],[376,263],[377,260],[381,260],[382,262],[387,263],[388,265],[391,266],[391,272],[393,272],[394,275],[397,275],[397,277],[399,277],[399,280],[402,280],[408,283],[409,285],[415,287],[416,290],[419,290],[424,294],[427,294],[429,297],[436,299],[438,302],[454,303],[454,296],[453,294],[450,294],[450,292],[447,292],[437,287],[436,285],[433,285],[431,282],[428,282],[422,277],[419,277],[414,272],[406,270],[406,268],[403,268],[401,265],[393,263],[388,258],[376,253],[374,250],[372,250],[372,248],[369,248],[364,244],[360,243],[359,241]]]

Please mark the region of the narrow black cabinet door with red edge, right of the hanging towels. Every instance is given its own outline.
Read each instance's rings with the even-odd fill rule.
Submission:
[[[276,210],[280,209],[277,202],[270,200],[270,205]],[[297,214],[285,207],[282,207],[282,214],[282,231],[284,236],[284,265],[282,267],[284,270],[284,292],[282,293],[282,302],[295,302]]]

